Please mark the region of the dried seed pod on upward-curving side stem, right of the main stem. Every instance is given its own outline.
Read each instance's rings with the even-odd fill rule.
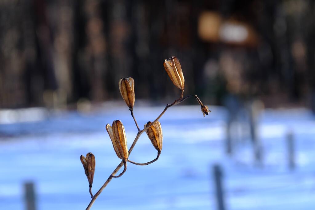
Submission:
[[[150,126],[151,124],[152,124],[152,122],[150,122],[150,121],[147,122],[144,125],[144,128],[146,128],[147,126]],[[161,152],[162,144],[163,144],[163,133],[162,133],[161,123],[159,121],[154,123],[154,125],[152,125],[150,128],[148,128],[146,130],[146,134],[148,135],[149,139],[151,140],[154,148],[158,152]]]

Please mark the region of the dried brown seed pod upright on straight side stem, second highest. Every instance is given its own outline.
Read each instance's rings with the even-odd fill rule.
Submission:
[[[135,81],[133,78],[123,78],[118,82],[120,94],[127,106],[132,109],[135,103]]]

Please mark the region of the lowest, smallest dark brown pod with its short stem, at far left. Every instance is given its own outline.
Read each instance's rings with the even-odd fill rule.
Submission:
[[[95,156],[91,152],[89,152],[88,154],[86,154],[86,157],[81,155],[80,160],[82,162],[85,175],[89,181],[89,188],[90,188],[91,197],[93,197],[92,192],[91,192],[91,188],[92,188],[94,172],[95,172]]]

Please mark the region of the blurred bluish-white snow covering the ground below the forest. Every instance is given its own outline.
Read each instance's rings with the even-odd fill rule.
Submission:
[[[135,107],[134,114],[142,127],[163,108]],[[127,172],[109,183],[92,209],[216,209],[214,164],[223,171],[228,210],[315,208],[315,117],[310,111],[265,110],[261,114],[260,165],[255,163],[248,129],[242,123],[233,125],[243,133],[235,133],[235,155],[226,156],[226,111],[209,108],[212,112],[203,117],[200,106],[171,107],[160,120],[164,138],[159,160],[149,166],[128,164]],[[95,193],[120,162],[105,125],[120,119],[130,146],[137,133],[130,112],[116,107],[90,114],[40,113],[33,122],[0,122],[0,209],[24,209],[27,181],[35,183],[38,210],[85,209],[89,184],[79,156],[92,152],[96,157]],[[288,131],[295,139],[294,171],[288,168]],[[142,135],[129,159],[148,162],[156,155]]]

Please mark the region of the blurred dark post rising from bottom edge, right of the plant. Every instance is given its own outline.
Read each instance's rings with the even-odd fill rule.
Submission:
[[[214,182],[215,182],[215,191],[216,191],[216,198],[217,198],[217,209],[218,210],[225,210],[224,206],[224,195],[223,195],[223,188],[222,188],[222,171],[221,167],[217,164],[213,166],[213,175],[214,175]]]

